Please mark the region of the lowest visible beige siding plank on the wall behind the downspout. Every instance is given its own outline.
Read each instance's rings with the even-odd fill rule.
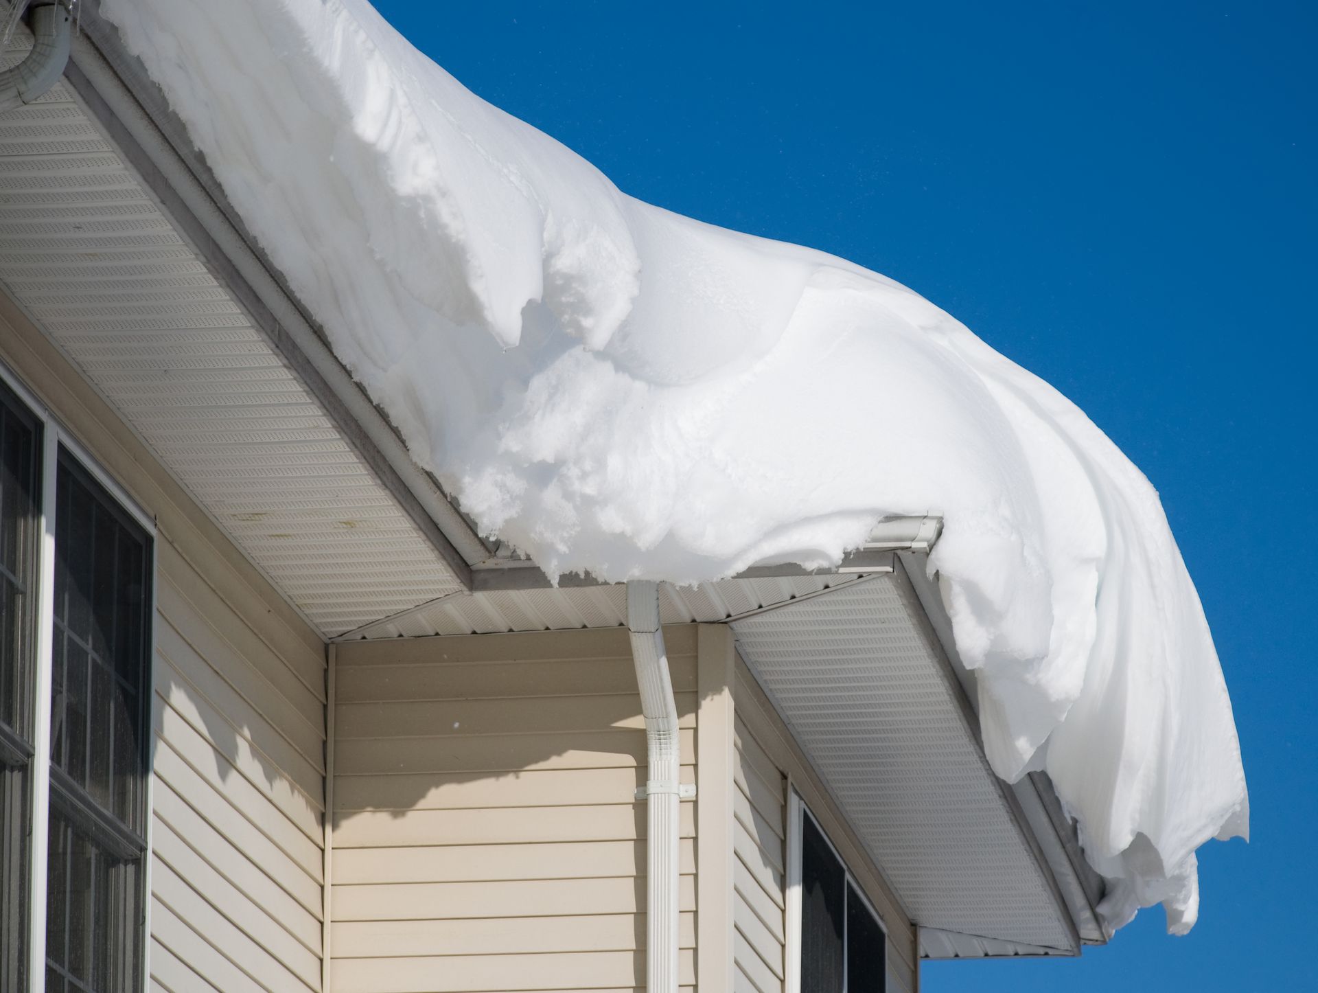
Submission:
[[[642,952],[563,952],[559,955],[461,955],[443,959],[391,959],[389,984],[370,959],[335,963],[335,993],[492,993],[493,990],[580,990],[634,988],[645,982]],[[679,982],[696,981],[695,955],[683,951]]]

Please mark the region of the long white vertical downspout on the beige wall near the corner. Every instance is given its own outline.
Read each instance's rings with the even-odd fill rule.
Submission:
[[[646,719],[650,771],[643,790],[648,812],[646,876],[646,989],[677,993],[677,872],[681,787],[681,744],[677,737],[677,704],[672,698],[668,653],[659,626],[659,586],[646,580],[627,583],[627,626],[631,658],[641,687],[641,711]]]

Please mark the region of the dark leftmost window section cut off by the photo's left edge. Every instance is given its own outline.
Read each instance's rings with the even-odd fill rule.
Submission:
[[[41,427],[0,382],[0,993],[26,989]]]

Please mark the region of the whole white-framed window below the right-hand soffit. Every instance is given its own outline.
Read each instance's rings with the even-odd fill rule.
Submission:
[[[828,836],[792,794],[788,968],[796,993],[883,993],[887,936]]]

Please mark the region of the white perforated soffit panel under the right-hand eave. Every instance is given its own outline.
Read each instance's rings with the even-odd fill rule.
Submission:
[[[916,923],[1074,947],[891,575],[733,621],[737,647]]]

